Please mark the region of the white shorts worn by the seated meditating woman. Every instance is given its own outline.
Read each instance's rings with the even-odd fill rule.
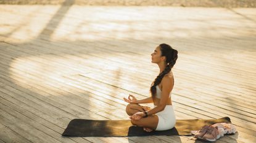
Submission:
[[[154,106],[155,107],[155,106]],[[176,124],[176,118],[172,105],[165,106],[165,109],[161,112],[158,112],[157,117],[159,118],[159,122],[157,123],[156,131],[163,131],[167,129],[171,129]]]

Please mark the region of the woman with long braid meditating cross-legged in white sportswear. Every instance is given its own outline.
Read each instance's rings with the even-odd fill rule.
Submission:
[[[126,113],[130,115],[131,123],[144,127],[144,131],[162,131],[175,126],[176,118],[171,105],[171,90],[174,79],[171,68],[178,58],[178,51],[168,44],[160,44],[151,54],[152,63],[159,66],[160,72],[151,85],[151,97],[137,100],[133,95],[128,99],[123,98],[129,104]],[[154,108],[140,106],[142,103],[154,102]]]

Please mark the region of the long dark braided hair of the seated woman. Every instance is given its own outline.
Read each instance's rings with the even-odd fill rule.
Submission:
[[[173,68],[174,64],[176,63],[176,60],[178,58],[178,51],[171,48],[168,44],[160,44],[159,45],[162,55],[166,58],[167,66],[165,69],[155,78],[154,82],[151,85],[151,95],[152,98],[155,98],[155,93],[157,91],[156,86],[159,85],[159,83],[162,81],[165,74],[168,74],[171,71],[171,68]]]

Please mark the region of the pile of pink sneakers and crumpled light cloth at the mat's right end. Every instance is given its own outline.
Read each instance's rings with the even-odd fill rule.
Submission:
[[[215,142],[225,134],[235,134],[236,126],[231,123],[215,123],[213,125],[204,125],[199,131],[191,131],[193,138],[203,141]]]

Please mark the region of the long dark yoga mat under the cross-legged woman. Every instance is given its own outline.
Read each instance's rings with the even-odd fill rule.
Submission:
[[[223,117],[213,120],[176,120],[175,128],[165,131],[146,132],[142,127],[133,126],[130,120],[85,120],[73,119],[68,124],[62,136],[174,136],[191,135],[191,131],[196,131],[204,125],[213,125],[215,123],[231,123],[229,117]]]

